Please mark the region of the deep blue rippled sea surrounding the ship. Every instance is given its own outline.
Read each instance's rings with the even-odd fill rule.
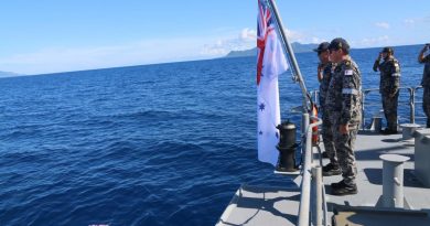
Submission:
[[[395,49],[402,86],[420,83],[420,47]],[[378,51],[353,50],[363,88],[378,87]],[[318,89],[316,55],[297,57]],[[241,57],[0,79],[0,225],[214,225],[240,184],[292,186],[257,161],[255,68]],[[289,72],[280,96],[299,123]]]

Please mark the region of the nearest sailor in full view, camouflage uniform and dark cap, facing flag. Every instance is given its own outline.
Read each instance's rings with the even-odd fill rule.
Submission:
[[[332,183],[333,195],[357,193],[354,143],[362,121],[362,77],[350,56],[350,45],[334,39],[329,46],[330,60],[336,64],[330,80],[325,107],[330,112],[337,160],[343,180]]]

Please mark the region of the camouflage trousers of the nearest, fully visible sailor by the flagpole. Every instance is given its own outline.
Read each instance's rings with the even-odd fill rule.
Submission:
[[[338,131],[338,123],[332,127],[334,148],[337,154],[337,161],[342,169],[342,176],[346,184],[355,184],[357,166],[355,163],[354,146],[357,138],[358,126],[350,126],[350,132],[342,134]]]

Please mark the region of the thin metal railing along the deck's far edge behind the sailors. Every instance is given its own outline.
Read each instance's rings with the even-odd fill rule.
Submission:
[[[400,87],[399,88],[399,101],[398,101],[398,108],[405,108],[405,107],[408,107],[409,109],[409,123],[416,123],[416,119],[422,119],[424,117],[418,117],[417,116],[417,111],[416,111],[416,105],[417,104],[422,104],[422,101],[418,101],[417,100],[417,90],[419,89],[422,89],[422,86],[411,86],[411,87]],[[368,88],[368,89],[363,89],[362,90],[362,98],[363,98],[363,106],[362,106],[362,116],[363,116],[363,120],[362,120],[362,128],[363,129],[366,129],[366,125],[367,125],[367,121],[370,121],[369,125],[372,125],[372,119],[368,119],[366,118],[366,107],[377,107],[377,106],[381,106],[381,101],[375,101],[375,100],[369,100],[367,97],[369,97],[370,95],[374,95],[375,93],[379,94],[379,88]],[[311,92],[311,95],[314,99],[314,103],[316,103],[319,106],[320,106],[320,101],[319,101],[319,90],[313,90]],[[405,101],[405,95],[408,95],[406,96],[407,98],[407,101]],[[379,108],[379,110],[381,109],[381,107]],[[379,111],[378,111],[379,112]],[[378,115],[377,114],[374,114],[374,115]]]

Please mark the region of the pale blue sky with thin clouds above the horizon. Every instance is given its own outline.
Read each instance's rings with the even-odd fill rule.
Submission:
[[[289,40],[430,43],[430,1],[277,0]],[[13,0],[0,71],[46,74],[215,58],[256,45],[257,0]]]

